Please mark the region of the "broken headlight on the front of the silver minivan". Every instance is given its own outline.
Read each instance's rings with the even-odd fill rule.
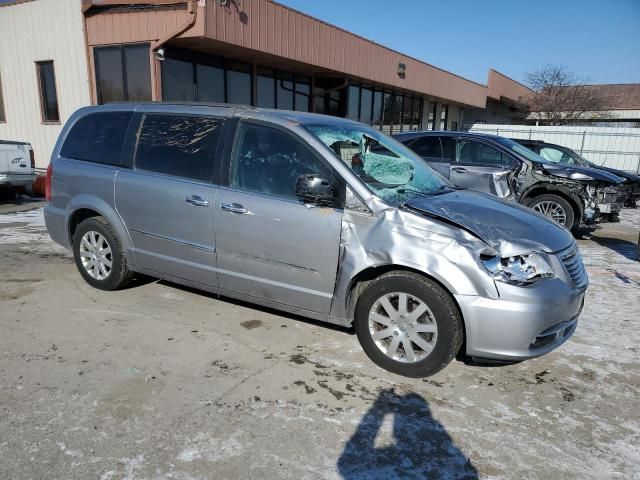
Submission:
[[[499,256],[482,256],[484,268],[494,280],[511,285],[529,285],[540,278],[553,277],[553,269],[549,262],[539,253],[515,255],[500,258]]]

